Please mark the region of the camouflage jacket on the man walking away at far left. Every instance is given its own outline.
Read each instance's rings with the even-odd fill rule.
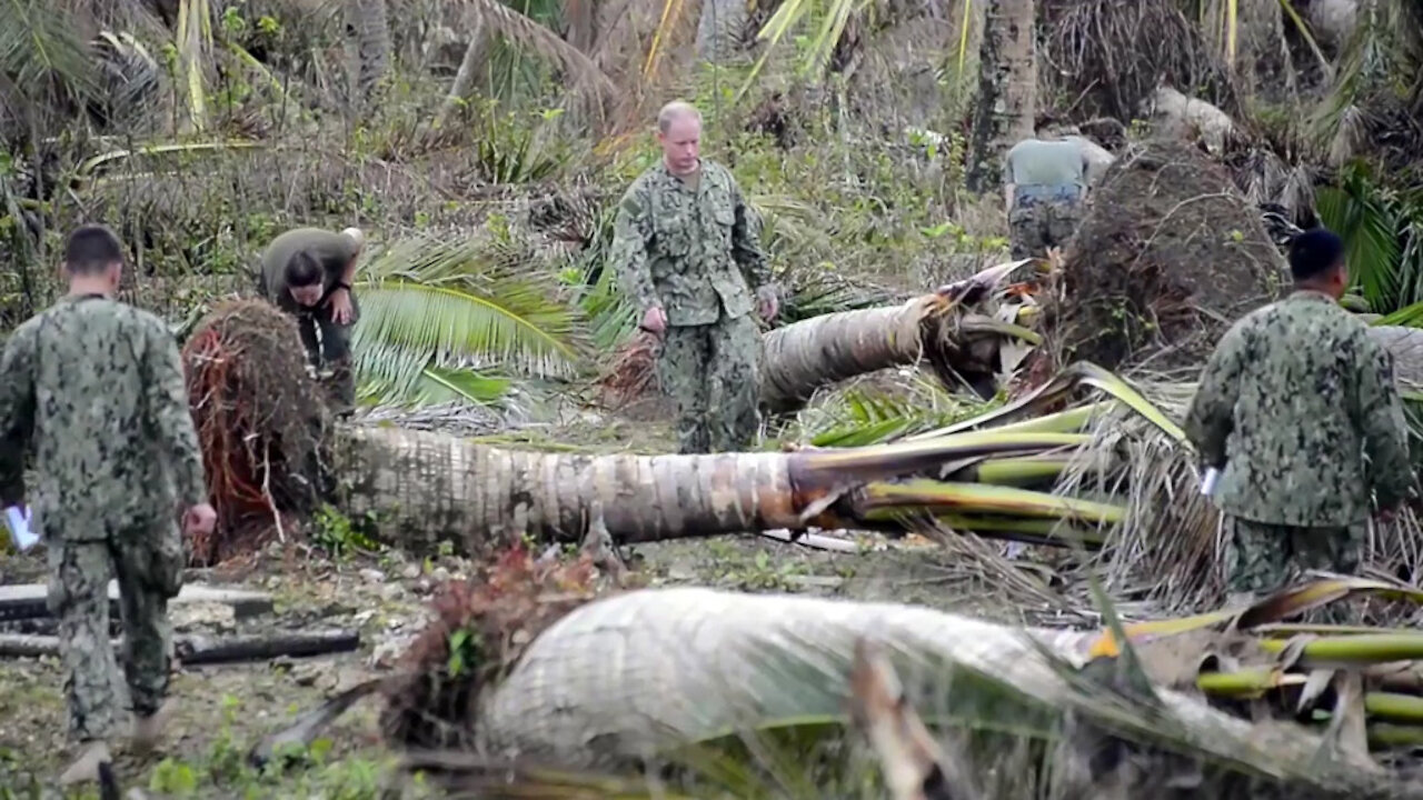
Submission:
[[[40,530],[102,540],[206,502],[198,434],[172,335],[148,312],[68,296],[30,317],[0,356],[0,501],[28,498]]]

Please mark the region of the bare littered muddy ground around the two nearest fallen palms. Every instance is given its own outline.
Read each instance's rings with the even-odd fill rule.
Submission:
[[[646,419],[632,424],[595,423],[576,433],[559,431],[554,438],[564,446],[599,450],[656,450],[667,444],[666,431]],[[538,447],[546,441],[545,436],[515,433],[508,436],[508,444]],[[1012,562],[1007,568],[1013,575],[1005,577],[975,567],[979,557],[992,559],[998,569],[1009,565],[998,557],[1002,551],[998,544],[979,542],[976,554],[916,537],[854,538],[861,545],[857,552],[827,552],[747,535],[639,545],[625,548],[623,555],[653,586],[696,584],[912,602],[1003,622],[1091,622],[1057,602],[1056,592],[1032,591],[1054,584],[1052,569],[1042,564],[1050,558]],[[289,542],[240,564],[192,571],[189,582],[270,592],[275,609],[253,619],[231,621],[211,606],[174,608],[171,616],[178,632],[356,628],[360,649],[334,656],[182,669],[172,683],[172,696],[181,705],[164,752],[145,759],[122,747],[115,752],[125,791],[141,787],[148,797],[377,796],[394,762],[380,744],[377,699],[351,709],[329,740],[313,747],[313,759],[303,767],[256,774],[243,766],[243,754],[263,735],[332,693],[388,672],[407,639],[421,629],[431,594],[470,569],[470,562],[457,555],[413,561],[398,551],[351,547],[333,557],[322,548]],[[41,552],[0,555],[0,582],[43,579]],[[0,797],[60,796],[43,787],[70,756],[64,742],[63,680],[53,658],[0,660],[0,787],[13,791],[6,794],[0,789]],[[68,796],[95,794],[90,790]]]

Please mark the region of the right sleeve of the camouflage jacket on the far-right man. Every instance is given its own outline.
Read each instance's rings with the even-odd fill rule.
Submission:
[[[1413,485],[1409,427],[1393,374],[1393,353],[1365,337],[1359,364],[1356,424],[1363,434],[1368,475],[1380,510],[1395,508]]]

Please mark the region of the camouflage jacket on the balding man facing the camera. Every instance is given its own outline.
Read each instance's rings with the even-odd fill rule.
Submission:
[[[673,326],[750,313],[751,288],[770,279],[754,214],[726,167],[703,159],[690,188],[659,162],[618,206],[610,259],[623,290]]]

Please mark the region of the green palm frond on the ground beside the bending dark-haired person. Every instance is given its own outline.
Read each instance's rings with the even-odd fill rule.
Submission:
[[[551,275],[508,251],[421,236],[371,259],[351,343],[367,393],[478,403],[507,387],[488,372],[573,374],[586,349],[583,315]]]

